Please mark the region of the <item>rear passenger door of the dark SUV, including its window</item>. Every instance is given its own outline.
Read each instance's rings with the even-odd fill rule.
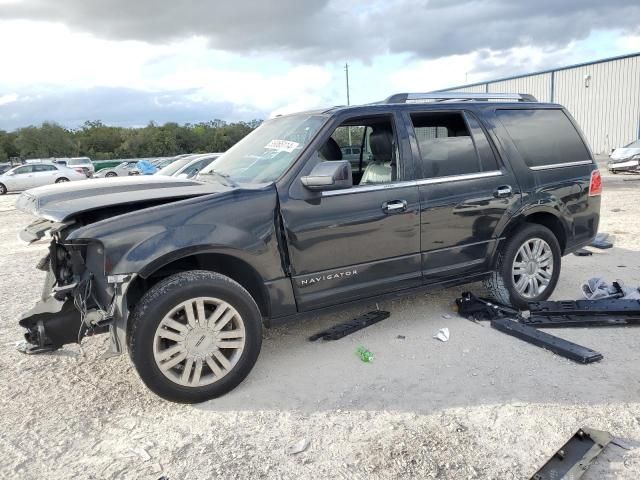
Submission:
[[[426,283],[486,272],[520,187],[471,111],[413,111]]]

